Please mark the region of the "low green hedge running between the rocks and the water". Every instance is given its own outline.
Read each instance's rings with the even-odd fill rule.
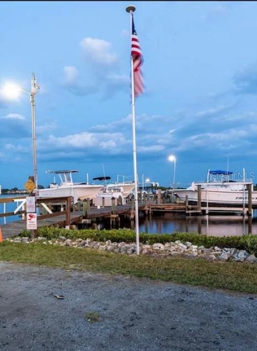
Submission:
[[[21,236],[29,236],[30,232],[23,231]],[[55,239],[64,236],[69,239],[87,239],[95,241],[111,240],[113,242],[135,242],[135,232],[131,229],[112,229],[112,230],[66,230],[58,227],[40,227],[38,229],[39,236],[45,236],[47,239]],[[173,233],[173,234],[140,234],[141,243],[161,243],[180,240],[182,243],[190,241],[193,245],[203,245],[206,248],[218,246],[219,248],[237,248],[239,250],[247,250],[251,254],[257,255],[257,235],[247,236],[206,236],[196,233]]]

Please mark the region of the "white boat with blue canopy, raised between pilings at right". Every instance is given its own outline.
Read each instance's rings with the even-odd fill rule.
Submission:
[[[208,203],[208,205],[242,206],[248,204],[247,185],[250,184],[252,204],[257,205],[257,191],[254,191],[253,182],[230,180],[229,176],[232,174],[233,172],[228,171],[208,171],[207,180],[204,183],[193,182],[187,189],[176,189],[174,194],[182,201],[186,201],[186,196],[188,196],[189,203],[197,203],[197,189],[200,185],[201,202]]]

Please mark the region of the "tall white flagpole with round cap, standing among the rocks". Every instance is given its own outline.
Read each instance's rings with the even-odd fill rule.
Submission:
[[[130,14],[130,33],[132,35],[132,13],[136,10],[134,5],[126,8]],[[136,142],[136,116],[135,116],[135,89],[134,89],[134,64],[131,56],[131,109],[132,109],[132,135],[133,135],[133,165],[135,184],[135,230],[137,254],[139,254],[139,218],[138,218],[138,170],[137,170],[137,142]]]

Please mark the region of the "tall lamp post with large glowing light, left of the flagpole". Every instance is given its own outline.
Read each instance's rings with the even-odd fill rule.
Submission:
[[[16,99],[19,97],[20,92],[24,92],[29,95],[31,103],[31,124],[32,124],[32,151],[33,151],[33,175],[36,189],[38,188],[38,168],[37,168],[37,145],[36,145],[36,114],[35,114],[35,95],[39,89],[35,73],[31,76],[31,92],[20,88],[18,85],[13,83],[6,83],[3,87],[3,94],[7,98]]]

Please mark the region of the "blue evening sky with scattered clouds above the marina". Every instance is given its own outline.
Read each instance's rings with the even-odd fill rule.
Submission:
[[[49,169],[75,180],[133,175],[128,3],[0,2],[0,93],[36,96],[39,183]],[[169,185],[208,168],[257,172],[257,2],[135,1],[146,92],[136,101],[138,174]],[[0,94],[0,184],[32,174],[28,96]],[[257,181],[256,181],[257,182]]]

